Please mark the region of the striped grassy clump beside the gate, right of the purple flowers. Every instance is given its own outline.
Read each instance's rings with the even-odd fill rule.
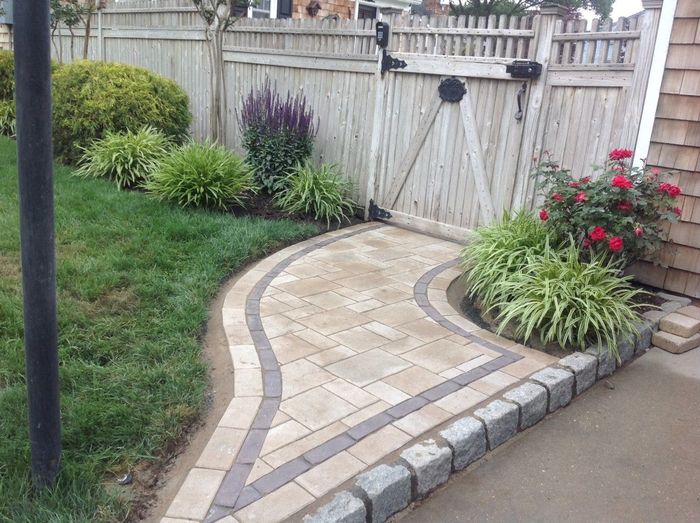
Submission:
[[[286,212],[303,212],[317,220],[350,220],[355,202],[350,199],[352,183],[335,165],[323,164],[318,169],[311,162],[297,164],[281,184],[275,204]]]

